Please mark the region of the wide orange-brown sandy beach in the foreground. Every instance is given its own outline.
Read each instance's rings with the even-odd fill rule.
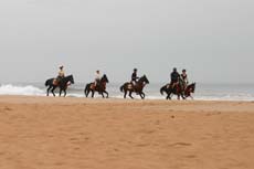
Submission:
[[[253,169],[254,102],[0,96],[1,169]]]

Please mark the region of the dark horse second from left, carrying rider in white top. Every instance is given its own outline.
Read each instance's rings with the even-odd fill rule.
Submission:
[[[106,98],[108,98],[108,92],[106,91],[107,83],[108,83],[107,75],[104,74],[99,81],[99,85],[95,86],[94,82],[86,84],[84,89],[85,96],[88,97],[89,92],[92,92],[92,97],[94,97],[94,93],[98,92],[99,94],[102,94],[103,98],[104,98],[104,93],[106,93],[107,95]]]

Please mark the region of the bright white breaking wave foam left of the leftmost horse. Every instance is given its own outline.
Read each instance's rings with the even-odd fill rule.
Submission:
[[[32,85],[28,86],[18,86],[18,85],[1,85],[0,86],[0,95],[44,95],[45,92],[42,89],[34,87]]]

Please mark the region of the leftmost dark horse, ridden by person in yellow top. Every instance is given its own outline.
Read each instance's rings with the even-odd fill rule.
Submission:
[[[60,96],[61,96],[62,92],[64,92],[64,97],[65,97],[67,86],[71,84],[74,84],[73,75],[68,75],[68,76],[63,77],[59,83],[56,82],[56,78],[46,80],[45,86],[49,86],[46,89],[46,96],[49,96],[50,89],[51,89],[53,96],[55,96],[54,91],[56,87],[60,87]]]

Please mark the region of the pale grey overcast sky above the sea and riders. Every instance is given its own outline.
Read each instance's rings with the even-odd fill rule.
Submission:
[[[0,84],[44,82],[59,65],[129,81],[254,83],[253,0],[1,0]]]

